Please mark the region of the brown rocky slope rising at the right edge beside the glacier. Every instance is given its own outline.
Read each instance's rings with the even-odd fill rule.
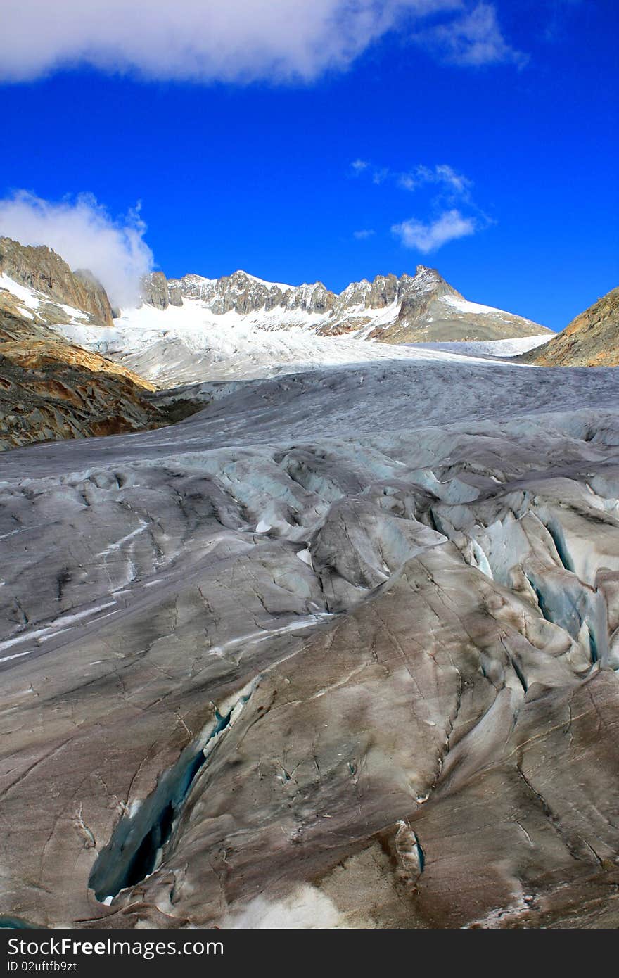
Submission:
[[[519,357],[541,367],[619,365],[619,289],[611,289],[550,343]]]

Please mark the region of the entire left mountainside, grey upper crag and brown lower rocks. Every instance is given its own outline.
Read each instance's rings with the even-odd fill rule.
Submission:
[[[113,329],[112,311],[89,272],[0,239],[0,451],[160,427],[195,410],[191,396],[156,406],[153,383],[63,335],[69,324]]]

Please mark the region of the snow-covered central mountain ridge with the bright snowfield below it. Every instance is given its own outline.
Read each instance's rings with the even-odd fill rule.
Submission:
[[[57,329],[158,386],[401,359],[411,355],[405,340],[433,335],[515,334],[523,341],[520,334],[528,331],[524,340],[535,345],[550,334],[466,302],[438,273],[421,267],[415,278],[377,278],[339,296],[320,285],[288,289],[237,272],[216,281],[179,280],[170,304],[161,276],[148,284],[153,301],[122,310],[113,329],[79,319]]]

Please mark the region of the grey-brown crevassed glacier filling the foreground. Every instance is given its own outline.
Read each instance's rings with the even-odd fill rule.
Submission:
[[[615,372],[390,352],[3,456],[5,917],[616,925]]]

